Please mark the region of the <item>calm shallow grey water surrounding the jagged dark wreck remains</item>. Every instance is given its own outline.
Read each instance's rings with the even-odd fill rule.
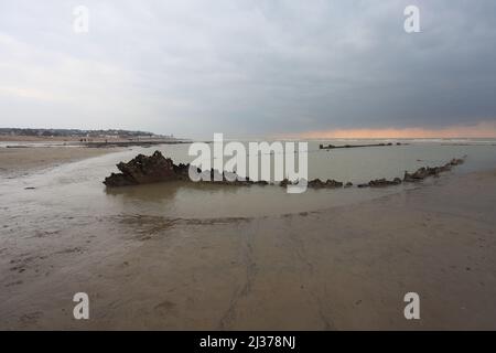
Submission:
[[[494,169],[496,140],[402,140],[407,146],[320,150],[320,143],[362,145],[398,140],[322,140],[309,143],[309,178],[335,179],[353,183],[402,176],[405,170],[439,165],[467,156],[453,173]],[[107,190],[101,181],[117,172],[116,163],[155,149],[174,162],[190,162],[188,145],[130,148],[79,162],[63,164],[24,176],[0,176],[2,224],[53,222],[64,217],[114,215],[160,215],[165,217],[261,216],[314,211],[398,192],[403,188],[309,190],[287,194],[280,186],[197,185],[160,183]],[[35,190],[24,190],[26,186]],[[1,232],[1,229],[0,229]]]

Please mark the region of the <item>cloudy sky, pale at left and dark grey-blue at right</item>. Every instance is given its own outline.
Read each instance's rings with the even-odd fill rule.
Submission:
[[[0,127],[496,137],[495,19],[494,0],[0,0]]]

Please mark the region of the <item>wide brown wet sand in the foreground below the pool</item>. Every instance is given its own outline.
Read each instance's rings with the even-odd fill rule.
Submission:
[[[492,171],[280,216],[11,220],[0,329],[494,330],[495,203]],[[409,291],[421,320],[403,317]]]

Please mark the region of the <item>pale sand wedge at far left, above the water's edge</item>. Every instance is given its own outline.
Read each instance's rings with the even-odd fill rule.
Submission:
[[[0,176],[13,178],[67,162],[117,152],[117,148],[13,147],[0,148]]]

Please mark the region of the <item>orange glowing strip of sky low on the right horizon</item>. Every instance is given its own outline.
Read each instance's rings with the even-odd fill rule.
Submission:
[[[440,129],[384,128],[384,129],[334,129],[298,133],[293,137],[317,139],[411,139],[411,138],[496,138],[496,121],[474,126],[452,126]]]

